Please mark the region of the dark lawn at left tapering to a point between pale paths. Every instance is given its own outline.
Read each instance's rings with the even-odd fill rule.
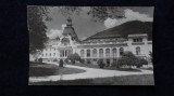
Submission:
[[[71,74],[80,72],[85,72],[85,70],[66,67],[61,68],[57,65],[51,64],[29,64],[29,77]]]

